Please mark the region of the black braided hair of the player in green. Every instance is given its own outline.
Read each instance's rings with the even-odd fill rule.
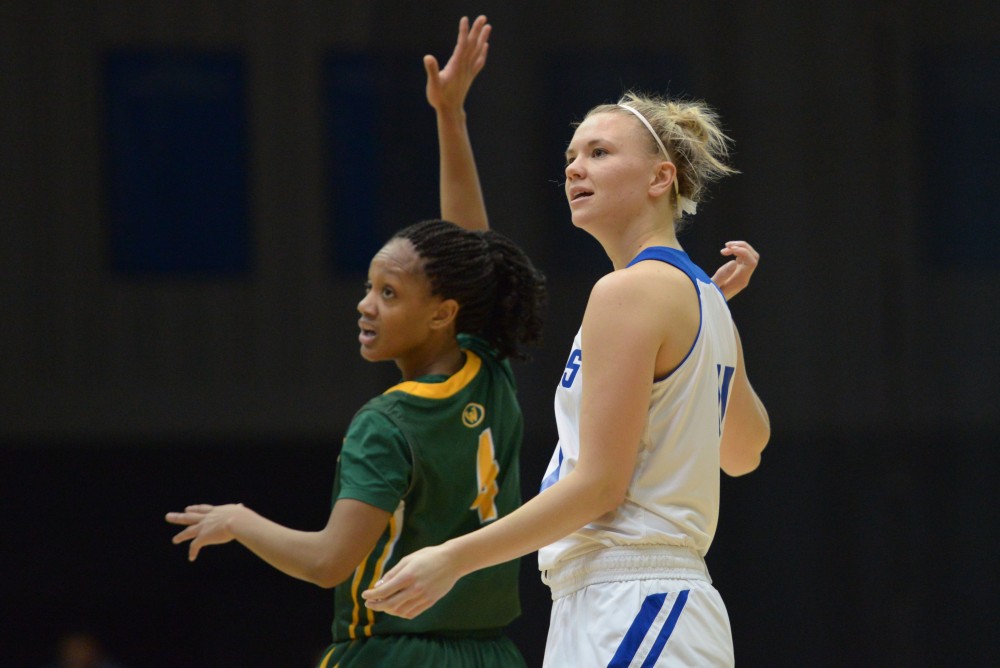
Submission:
[[[526,359],[520,346],[541,343],[545,277],[510,239],[444,220],[410,225],[393,238],[413,245],[432,294],[458,302],[456,332],[485,340],[501,359]]]

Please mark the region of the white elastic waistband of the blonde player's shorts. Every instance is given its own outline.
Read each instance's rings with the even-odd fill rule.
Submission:
[[[701,580],[711,583],[700,554],[672,545],[605,547],[542,571],[552,600],[592,584],[633,580]]]

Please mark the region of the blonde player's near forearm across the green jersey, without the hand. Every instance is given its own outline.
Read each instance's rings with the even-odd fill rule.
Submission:
[[[467,575],[530,554],[607,512],[610,493],[575,473],[510,515],[445,543],[457,571]]]

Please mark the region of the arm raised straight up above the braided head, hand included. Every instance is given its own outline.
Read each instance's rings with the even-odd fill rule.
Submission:
[[[464,105],[473,80],[486,64],[490,30],[485,16],[471,26],[463,16],[455,50],[444,69],[439,69],[434,56],[424,56],[427,101],[437,114],[441,217],[469,230],[489,229]]]

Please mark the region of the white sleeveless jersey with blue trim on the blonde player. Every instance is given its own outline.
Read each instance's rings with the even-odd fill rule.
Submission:
[[[733,320],[726,299],[683,251],[654,247],[629,266],[658,260],[683,271],[698,292],[701,322],[687,356],[655,379],[636,470],[625,502],[579,531],[539,550],[548,570],[573,557],[617,545],[677,545],[708,552],[719,516],[719,444],[736,369]],[[576,465],[580,453],[580,399],[586,382],[580,333],[556,388],[559,443],[542,489]]]

